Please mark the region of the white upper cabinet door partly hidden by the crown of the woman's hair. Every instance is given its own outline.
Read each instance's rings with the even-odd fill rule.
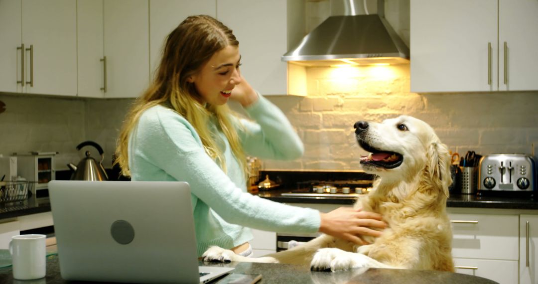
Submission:
[[[216,17],[215,0],[150,0],[151,75],[157,70],[165,39],[185,18],[192,15]]]

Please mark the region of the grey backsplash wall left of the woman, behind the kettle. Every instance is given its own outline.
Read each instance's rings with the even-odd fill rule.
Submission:
[[[132,102],[22,94],[2,94],[0,101],[6,105],[0,113],[0,154],[59,152],[56,169],[67,169],[68,162],[76,165],[84,153],[75,147],[85,140],[103,147],[104,165],[110,167],[119,127]],[[88,150],[98,159],[97,151]]]

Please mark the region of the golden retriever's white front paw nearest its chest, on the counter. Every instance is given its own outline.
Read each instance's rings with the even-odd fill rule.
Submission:
[[[314,271],[341,271],[350,268],[368,267],[368,257],[346,252],[339,248],[321,248],[314,254],[310,269]]]

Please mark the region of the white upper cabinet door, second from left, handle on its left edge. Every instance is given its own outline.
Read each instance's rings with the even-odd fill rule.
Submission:
[[[76,96],[76,1],[23,0],[22,42],[26,93]]]

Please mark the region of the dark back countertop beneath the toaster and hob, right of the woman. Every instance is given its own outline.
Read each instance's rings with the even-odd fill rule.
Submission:
[[[308,196],[282,196],[282,193],[297,191],[295,188],[277,188],[259,191],[256,195],[268,200],[285,203],[321,203],[321,204],[353,204],[353,197],[308,197]],[[538,200],[530,196],[487,196],[476,194],[451,194],[447,200],[447,207],[459,208],[495,208],[495,209],[534,209],[538,210]]]

